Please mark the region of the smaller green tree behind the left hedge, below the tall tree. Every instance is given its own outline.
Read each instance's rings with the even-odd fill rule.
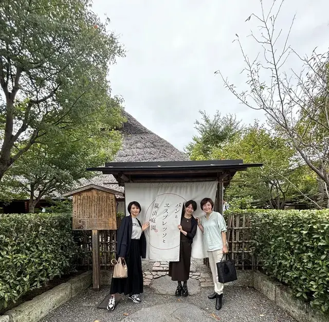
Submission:
[[[110,116],[107,118],[111,114],[108,109]],[[74,129],[65,134],[67,137],[61,137],[64,141],[60,143],[60,138],[51,141],[45,136],[47,144],[34,144],[4,176],[9,190],[28,196],[29,212],[34,212],[41,199],[58,198],[76,186],[79,179],[95,175],[86,168],[104,164],[120,148],[120,133],[117,131],[102,131],[100,128],[97,133],[81,133]]]

